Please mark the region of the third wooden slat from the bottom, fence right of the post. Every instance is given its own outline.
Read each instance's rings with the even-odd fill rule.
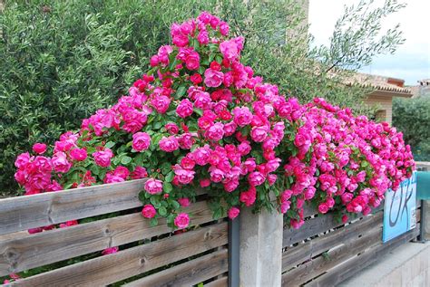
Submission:
[[[344,244],[347,240],[365,234],[375,225],[382,225],[382,217],[382,212],[378,212],[376,215],[367,215],[358,222],[346,225],[328,234],[323,234],[304,244],[298,244],[297,246],[288,248],[288,250],[282,254],[282,272],[287,271],[299,263],[306,262],[330,248],[336,247],[339,244]]]

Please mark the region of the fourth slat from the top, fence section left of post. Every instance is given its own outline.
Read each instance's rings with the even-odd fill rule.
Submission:
[[[191,286],[228,271],[228,250],[223,248],[126,284],[138,286]]]

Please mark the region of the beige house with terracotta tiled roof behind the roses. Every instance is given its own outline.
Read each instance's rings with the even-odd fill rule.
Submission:
[[[411,98],[412,90],[405,87],[405,81],[396,78],[357,72],[352,75],[347,84],[359,84],[371,91],[366,96],[366,103],[376,106],[376,120],[386,121],[390,125],[393,120],[393,98]]]

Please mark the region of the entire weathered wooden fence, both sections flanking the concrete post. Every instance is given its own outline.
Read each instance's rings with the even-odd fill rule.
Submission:
[[[200,193],[198,202],[187,207],[191,214],[187,232],[172,233],[164,220],[151,226],[140,214],[138,194],[143,183],[139,179],[0,200],[0,278],[24,272],[23,279],[10,283],[17,286],[239,286],[239,273],[246,276],[239,272],[243,255],[239,250],[247,246],[255,253],[258,248],[240,237],[246,233],[240,227],[239,234],[239,218],[214,221],[206,195]],[[249,216],[241,220],[259,217]],[[89,217],[96,220],[85,219]],[[271,234],[259,239],[273,244],[273,253],[282,249],[281,280],[286,286],[343,282],[381,254],[414,239],[420,225],[382,244],[382,208],[347,224],[338,223],[330,214],[317,215],[311,208],[305,217],[299,230],[284,229],[279,248]],[[73,219],[82,219],[80,225],[27,232]],[[112,246],[119,246],[120,251],[102,255]],[[253,264],[261,269],[269,265]],[[262,276],[265,272],[269,271]]]

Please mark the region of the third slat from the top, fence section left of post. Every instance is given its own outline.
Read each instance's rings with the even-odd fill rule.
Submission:
[[[227,244],[227,233],[226,222],[210,225],[21,279],[12,285],[97,286],[119,282]]]

